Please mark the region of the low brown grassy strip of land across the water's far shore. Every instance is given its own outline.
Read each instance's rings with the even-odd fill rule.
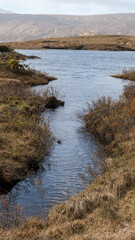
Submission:
[[[16,49],[135,51],[134,41],[135,37],[133,36],[93,35],[10,42],[8,44]]]

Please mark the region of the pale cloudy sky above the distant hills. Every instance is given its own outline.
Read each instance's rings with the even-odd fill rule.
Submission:
[[[135,0],[0,0],[17,13],[91,15],[135,12]]]

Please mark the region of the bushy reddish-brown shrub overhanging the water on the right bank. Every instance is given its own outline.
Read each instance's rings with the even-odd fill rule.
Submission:
[[[122,143],[130,139],[135,126],[134,103],[134,86],[129,86],[117,102],[102,97],[89,105],[88,114],[84,117],[86,128],[111,154],[122,153]]]

